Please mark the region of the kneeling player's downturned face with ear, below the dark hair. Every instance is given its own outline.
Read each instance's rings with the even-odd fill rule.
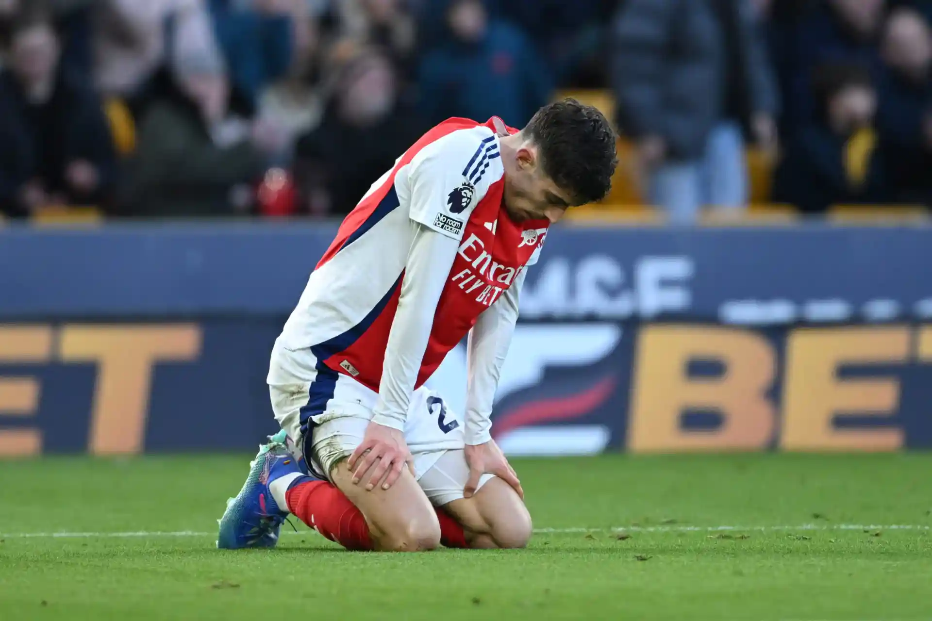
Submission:
[[[512,174],[505,177],[504,199],[508,215],[514,222],[558,222],[572,205],[569,194],[544,174],[531,150],[518,150],[516,164]]]

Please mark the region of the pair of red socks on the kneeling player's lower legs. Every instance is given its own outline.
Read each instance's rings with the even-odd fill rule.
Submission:
[[[298,483],[285,493],[288,509],[298,520],[336,541],[348,550],[371,550],[369,525],[363,512],[352,504],[345,493],[323,480]],[[457,520],[437,509],[440,520],[440,542],[445,547],[468,547],[462,526]]]

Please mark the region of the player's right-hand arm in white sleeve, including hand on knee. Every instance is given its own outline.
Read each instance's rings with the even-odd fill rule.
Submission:
[[[466,461],[470,476],[463,490],[466,498],[475,493],[479,479],[491,473],[507,482],[522,498],[524,490],[514,468],[492,439],[492,405],[499,387],[501,366],[508,355],[518,318],[518,299],[526,272],[479,316],[469,335],[467,348]]]

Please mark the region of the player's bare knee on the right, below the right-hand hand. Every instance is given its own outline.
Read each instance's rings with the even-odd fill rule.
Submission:
[[[446,504],[444,510],[463,527],[469,547],[526,547],[532,532],[524,502],[505,481],[489,479],[472,498]]]

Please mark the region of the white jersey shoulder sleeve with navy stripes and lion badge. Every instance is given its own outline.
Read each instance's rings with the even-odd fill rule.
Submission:
[[[411,219],[459,241],[470,214],[501,176],[491,129],[460,129],[424,147],[411,161]]]

